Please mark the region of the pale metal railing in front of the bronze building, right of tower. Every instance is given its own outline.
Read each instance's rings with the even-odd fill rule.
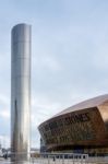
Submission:
[[[38,157],[32,157],[34,164],[87,164],[87,154],[74,153],[41,153]]]

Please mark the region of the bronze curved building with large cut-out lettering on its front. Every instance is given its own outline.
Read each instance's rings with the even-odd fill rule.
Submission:
[[[108,95],[67,108],[39,127],[47,151],[108,153]]]

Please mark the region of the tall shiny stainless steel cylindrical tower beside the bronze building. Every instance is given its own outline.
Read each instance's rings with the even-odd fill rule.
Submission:
[[[24,154],[27,159],[31,130],[31,25],[17,24],[12,28],[11,46],[11,149],[13,153]]]

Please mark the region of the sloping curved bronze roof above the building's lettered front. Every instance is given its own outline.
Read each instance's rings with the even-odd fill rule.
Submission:
[[[81,102],[81,103],[79,103],[76,105],[73,105],[71,107],[68,107],[67,109],[64,109],[61,113],[55,115],[53,117],[64,115],[64,114],[71,113],[71,112],[84,109],[84,108],[96,107],[96,106],[103,105],[104,103],[107,103],[107,102],[108,102],[108,94],[100,95],[100,96]]]

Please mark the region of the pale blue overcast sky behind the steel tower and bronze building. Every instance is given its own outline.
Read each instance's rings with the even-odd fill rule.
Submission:
[[[62,109],[108,93],[108,0],[0,2],[0,141],[10,144],[11,28],[32,24],[32,147],[37,127]]]

